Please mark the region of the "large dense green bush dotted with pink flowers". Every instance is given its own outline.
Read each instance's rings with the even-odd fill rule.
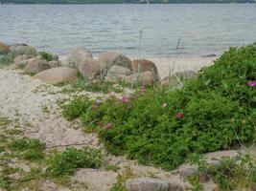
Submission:
[[[179,90],[143,88],[64,113],[81,117],[85,129],[99,129],[111,154],[174,169],[192,153],[256,140],[256,91],[248,84],[255,74],[256,44],[232,48]]]

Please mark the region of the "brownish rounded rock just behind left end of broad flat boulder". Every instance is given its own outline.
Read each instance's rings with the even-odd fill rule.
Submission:
[[[28,62],[24,72],[27,74],[36,74],[44,70],[50,69],[49,64],[45,59],[41,59],[39,56],[36,56]]]

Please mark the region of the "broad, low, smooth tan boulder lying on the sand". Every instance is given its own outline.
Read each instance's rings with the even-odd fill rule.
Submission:
[[[66,67],[57,67],[35,74],[34,77],[47,84],[57,84],[76,79],[78,71]]]

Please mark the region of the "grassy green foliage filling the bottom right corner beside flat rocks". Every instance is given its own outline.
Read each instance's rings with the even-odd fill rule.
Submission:
[[[194,161],[198,164],[198,173],[192,176],[195,185],[201,173],[214,180],[220,190],[251,190],[256,175],[256,163],[250,156],[238,156],[234,159],[222,158],[217,164],[208,164],[203,159]]]

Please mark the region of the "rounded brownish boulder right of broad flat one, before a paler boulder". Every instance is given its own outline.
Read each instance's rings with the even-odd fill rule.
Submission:
[[[83,77],[94,80],[101,75],[101,64],[95,59],[84,59],[78,66]]]

